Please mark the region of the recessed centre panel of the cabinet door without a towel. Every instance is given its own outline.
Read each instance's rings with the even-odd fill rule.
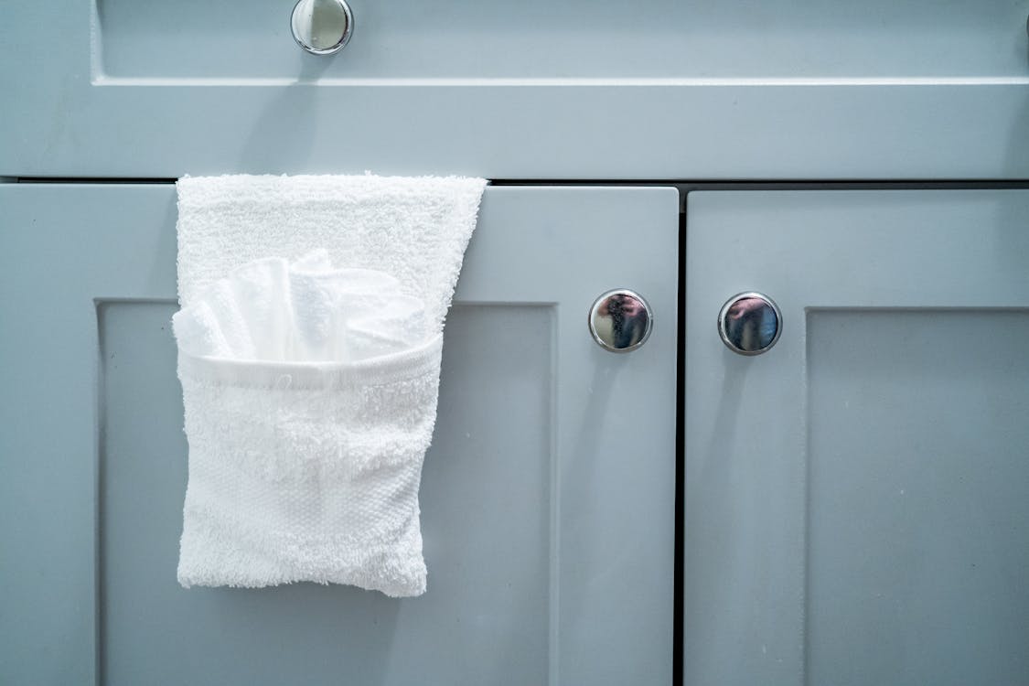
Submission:
[[[808,680],[1029,680],[1029,309],[808,315]]]

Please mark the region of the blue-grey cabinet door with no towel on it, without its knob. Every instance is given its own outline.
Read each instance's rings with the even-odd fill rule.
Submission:
[[[685,683],[1029,683],[1029,192],[687,206]]]

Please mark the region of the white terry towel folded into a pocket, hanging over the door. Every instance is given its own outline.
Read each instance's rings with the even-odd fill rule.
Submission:
[[[486,181],[178,182],[183,586],[425,591],[418,489]]]

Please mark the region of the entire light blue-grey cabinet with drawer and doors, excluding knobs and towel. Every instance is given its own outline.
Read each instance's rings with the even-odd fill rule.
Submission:
[[[1029,686],[1026,0],[350,4],[5,8],[0,682]],[[496,184],[429,592],[181,590],[171,184],[365,170]]]

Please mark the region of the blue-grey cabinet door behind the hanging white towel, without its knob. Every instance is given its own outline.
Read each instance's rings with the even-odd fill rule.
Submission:
[[[175,581],[171,185],[0,186],[0,681],[667,684],[678,198],[489,188],[446,330],[428,592]],[[657,322],[590,336],[600,293]]]

